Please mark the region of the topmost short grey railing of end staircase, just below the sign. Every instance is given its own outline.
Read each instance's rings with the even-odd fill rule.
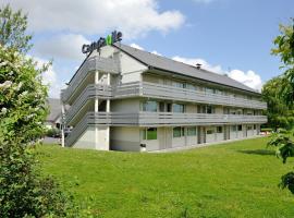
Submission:
[[[66,89],[62,90],[62,101],[68,101],[77,86],[93,71],[101,71],[107,73],[119,73],[119,62],[111,58],[101,58],[98,56],[88,58],[73,76]]]

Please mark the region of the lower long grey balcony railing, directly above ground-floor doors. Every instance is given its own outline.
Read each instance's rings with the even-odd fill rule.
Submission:
[[[105,125],[209,125],[233,123],[266,123],[266,116],[236,116],[173,112],[87,112],[88,124]]]

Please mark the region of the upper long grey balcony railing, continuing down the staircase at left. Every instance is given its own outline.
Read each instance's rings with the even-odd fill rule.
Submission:
[[[88,85],[84,92],[75,99],[68,114],[76,113],[86,100],[93,97],[101,98],[127,98],[134,96],[144,96],[151,98],[183,100],[191,102],[201,102],[211,105],[223,105],[253,109],[266,109],[267,104],[258,100],[250,100],[244,98],[237,98],[233,96],[225,96],[220,94],[208,94],[198,90],[192,90],[186,88],[176,88],[167,85],[135,82],[126,83],[118,86],[107,85]],[[74,111],[74,112],[73,112]],[[71,118],[66,118],[71,119]]]

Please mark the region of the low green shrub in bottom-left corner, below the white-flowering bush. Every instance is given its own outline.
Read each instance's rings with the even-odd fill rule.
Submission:
[[[0,145],[0,217],[74,216],[72,197],[39,173],[33,148]]]

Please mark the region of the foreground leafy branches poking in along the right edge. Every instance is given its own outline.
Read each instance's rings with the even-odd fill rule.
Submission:
[[[281,75],[286,83],[281,87],[281,97],[289,106],[294,105],[294,20],[291,25],[280,25],[281,35],[277,36],[273,44],[277,46],[272,53],[280,56],[284,69]],[[294,142],[289,133],[278,133],[273,135],[269,145],[278,147],[278,156],[282,157],[283,164],[289,157],[294,156]],[[281,178],[280,186],[287,187],[294,194],[294,171],[284,174]]]

